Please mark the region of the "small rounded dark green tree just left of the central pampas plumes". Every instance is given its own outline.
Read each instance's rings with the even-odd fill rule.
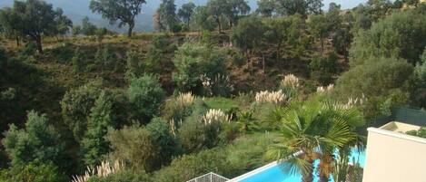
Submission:
[[[127,96],[134,105],[136,120],[147,123],[159,113],[158,109],[164,101],[165,92],[156,77],[144,74],[130,81]]]

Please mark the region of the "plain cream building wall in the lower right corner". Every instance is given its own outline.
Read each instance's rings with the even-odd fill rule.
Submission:
[[[426,182],[426,139],[368,131],[363,182]]]

